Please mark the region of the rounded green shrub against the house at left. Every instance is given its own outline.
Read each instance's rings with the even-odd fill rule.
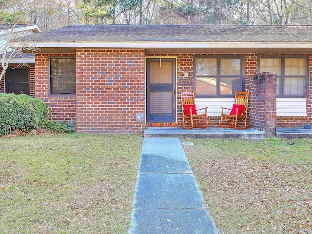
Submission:
[[[44,101],[25,94],[0,94],[0,136],[19,129],[29,132],[44,128],[48,122],[49,109]]]

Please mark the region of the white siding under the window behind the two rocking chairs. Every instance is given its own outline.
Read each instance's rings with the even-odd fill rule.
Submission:
[[[221,116],[221,107],[232,109],[233,103],[234,98],[195,98],[196,109],[208,107],[208,116]]]

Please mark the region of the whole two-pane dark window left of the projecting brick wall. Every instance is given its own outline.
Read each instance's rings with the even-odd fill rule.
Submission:
[[[76,94],[76,59],[50,58],[50,94]]]

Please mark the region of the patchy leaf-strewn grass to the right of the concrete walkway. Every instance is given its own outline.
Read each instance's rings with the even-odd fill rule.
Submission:
[[[312,140],[183,139],[220,234],[312,234]]]

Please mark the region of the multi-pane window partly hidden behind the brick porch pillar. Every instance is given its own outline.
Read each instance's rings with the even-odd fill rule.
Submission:
[[[307,57],[261,57],[260,72],[276,72],[277,97],[304,97]]]

